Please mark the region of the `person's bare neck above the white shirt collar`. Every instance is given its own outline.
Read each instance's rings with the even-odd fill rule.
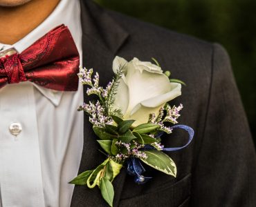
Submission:
[[[32,0],[22,6],[0,6],[0,43],[13,44],[34,30],[60,0]]]

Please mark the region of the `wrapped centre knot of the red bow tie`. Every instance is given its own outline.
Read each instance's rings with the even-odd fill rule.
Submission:
[[[19,83],[28,80],[18,54],[3,57],[0,62],[0,76],[7,77],[8,83]]]

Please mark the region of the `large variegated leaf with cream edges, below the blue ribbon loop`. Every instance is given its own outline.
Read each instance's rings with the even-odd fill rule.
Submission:
[[[145,164],[176,177],[176,165],[168,155],[158,150],[143,150],[143,152],[147,155],[147,159],[141,159]]]

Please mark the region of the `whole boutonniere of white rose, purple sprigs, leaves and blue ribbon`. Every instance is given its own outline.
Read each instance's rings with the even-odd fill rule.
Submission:
[[[127,62],[116,57],[113,60],[115,77],[106,88],[99,86],[99,74],[93,75],[93,69],[80,68],[78,74],[82,84],[88,86],[87,95],[98,96],[78,110],[89,115],[98,137],[95,141],[107,158],[97,168],[82,172],[70,183],[88,188],[98,186],[109,206],[113,206],[114,197],[111,182],[123,166],[137,184],[152,179],[143,176],[143,164],[176,177],[176,165],[165,151],[185,148],[194,135],[192,128],[175,125],[182,104],[170,106],[167,103],[181,95],[181,84],[184,83],[170,79],[170,72],[163,73],[158,62],[153,60],[155,64],[137,58]],[[161,135],[171,134],[174,128],[188,132],[188,143],[179,148],[165,148],[161,144]]]

